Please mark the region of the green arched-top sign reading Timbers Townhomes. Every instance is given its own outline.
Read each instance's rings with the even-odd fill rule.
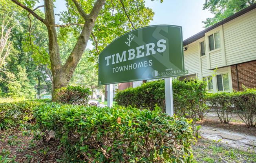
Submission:
[[[99,54],[99,85],[183,76],[182,27],[135,29]]]

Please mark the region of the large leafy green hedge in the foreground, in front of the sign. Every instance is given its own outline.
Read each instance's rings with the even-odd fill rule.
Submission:
[[[192,162],[190,122],[159,108],[84,107],[49,103],[37,112],[37,125],[55,131],[66,162]]]

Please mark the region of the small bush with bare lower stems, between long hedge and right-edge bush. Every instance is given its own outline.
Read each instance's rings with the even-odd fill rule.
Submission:
[[[218,114],[219,120],[221,123],[229,123],[234,109],[232,109],[232,92],[218,92],[218,93],[209,93],[208,94],[208,103],[214,107],[216,113]],[[231,115],[229,117],[229,112]]]

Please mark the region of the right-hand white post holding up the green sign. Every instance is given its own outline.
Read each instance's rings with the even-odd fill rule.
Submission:
[[[165,112],[173,116],[172,78],[165,78]]]

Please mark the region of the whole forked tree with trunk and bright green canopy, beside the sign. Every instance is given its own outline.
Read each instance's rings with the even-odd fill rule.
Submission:
[[[58,25],[55,24],[53,0],[44,0],[44,16],[40,16],[35,12],[38,7],[34,10],[32,9],[37,0],[12,1],[47,27],[53,91],[68,85],[89,39],[96,40],[96,37],[98,38],[95,41],[95,49],[99,54],[98,43],[109,43],[113,38],[117,38],[117,36],[121,36],[127,31],[146,26],[154,16],[152,10],[145,7],[144,1],[66,0],[68,10],[59,14],[60,20],[64,25]],[[64,28],[60,30],[62,36],[67,31],[74,31],[77,34],[76,44],[64,65],[61,63],[55,27]],[[112,36],[112,34],[116,35]],[[104,45],[104,43],[102,44]]]

